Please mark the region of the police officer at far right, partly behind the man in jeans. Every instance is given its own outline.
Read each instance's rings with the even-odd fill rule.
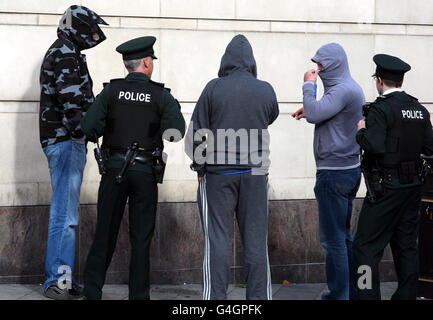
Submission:
[[[390,243],[398,277],[392,299],[415,299],[422,185],[420,154],[433,154],[432,125],[426,108],[401,89],[410,66],[385,54],[375,55],[373,60],[380,97],[366,110],[365,121],[358,123],[356,139],[365,158],[370,159],[368,172],[376,170],[378,175],[374,176],[375,181],[369,181],[376,186],[375,198],[364,199],[353,244],[356,264],[358,268],[362,266],[358,269],[358,298],[381,298],[379,263]]]

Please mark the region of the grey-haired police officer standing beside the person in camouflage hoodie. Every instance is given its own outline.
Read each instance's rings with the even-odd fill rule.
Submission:
[[[103,135],[102,152],[108,156],[98,192],[94,241],[84,270],[87,299],[101,299],[128,199],[129,299],[149,299],[149,248],[158,200],[152,152],[163,148],[163,137],[178,141],[185,133],[179,103],[163,84],[150,79],[156,59],[155,41],[155,37],[140,37],[116,48],[129,74],[125,79],[114,79],[106,84],[81,121],[82,130],[88,136]],[[170,133],[167,135],[167,132]],[[137,153],[141,161],[134,162],[119,183],[116,177],[134,142],[141,150]]]

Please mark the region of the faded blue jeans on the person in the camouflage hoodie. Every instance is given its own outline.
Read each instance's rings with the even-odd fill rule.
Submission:
[[[75,260],[75,229],[78,225],[80,189],[86,165],[86,146],[71,140],[43,148],[48,159],[53,197],[50,207],[45,257],[45,288],[63,274],[60,266],[72,272]],[[61,268],[62,269],[62,268]]]

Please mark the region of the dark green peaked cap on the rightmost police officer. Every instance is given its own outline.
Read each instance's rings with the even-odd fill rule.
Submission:
[[[410,65],[406,62],[388,54],[376,54],[373,61],[376,64],[373,77],[381,77],[385,80],[402,81],[404,74],[410,70]]]

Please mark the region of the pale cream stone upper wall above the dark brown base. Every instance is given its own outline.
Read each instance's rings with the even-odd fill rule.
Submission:
[[[61,13],[71,4],[88,6],[110,24],[103,27],[108,39],[85,52],[95,94],[102,82],[125,74],[114,48],[134,37],[154,35],[160,58],[154,80],[172,88],[187,121],[201,90],[216,77],[230,39],[238,33],[246,35],[253,46],[258,77],[274,86],[280,103],[280,116],[270,128],[271,199],[314,198],[313,126],[293,120],[290,114],[301,106],[302,76],[314,67],[310,58],[321,45],[336,41],[344,46],[353,77],[367,100],[376,96],[372,56],[378,52],[400,56],[413,67],[405,89],[428,108],[433,106],[428,80],[432,1],[1,0],[0,206],[49,204],[48,167],[38,133],[38,77]],[[167,144],[167,151],[169,166],[160,201],[194,201],[195,176],[183,142]],[[89,152],[82,203],[96,202],[98,181]],[[358,196],[363,194],[364,187]]]

